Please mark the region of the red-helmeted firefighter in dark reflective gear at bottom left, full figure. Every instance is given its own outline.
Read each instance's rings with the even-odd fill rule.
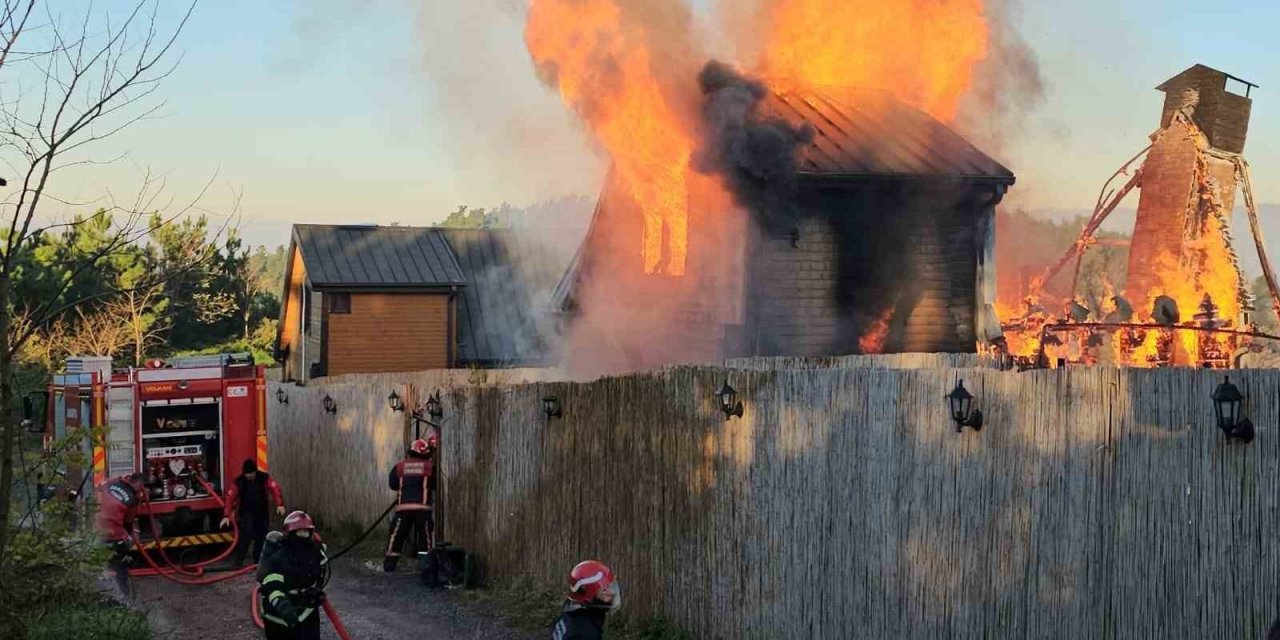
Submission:
[[[285,516],[283,539],[262,558],[256,573],[268,640],[320,640],[328,563],[311,516],[301,511]]]

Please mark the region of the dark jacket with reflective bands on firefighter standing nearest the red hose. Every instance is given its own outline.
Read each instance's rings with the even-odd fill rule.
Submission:
[[[262,554],[257,567],[262,620],[292,627],[316,616],[324,603],[328,563],[324,544],[285,534],[279,547]]]

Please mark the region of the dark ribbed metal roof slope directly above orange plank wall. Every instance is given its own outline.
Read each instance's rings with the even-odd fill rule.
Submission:
[[[296,224],[293,237],[316,288],[466,284],[439,229]]]

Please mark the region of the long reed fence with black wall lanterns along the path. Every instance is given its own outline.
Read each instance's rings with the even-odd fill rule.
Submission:
[[[948,422],[956,378],[980,433]],[[742,419],[716,407],[726,379]],[[1213,428],[1221,374],[1203,370],[673,367],[458,387],[444,522],[492,572],[549,588],[603,559],[628,612],[695,637],[1263,637],[1280,611],[1280,371],[1231,379],[1258,425],[1248,445]],[[334,426],[273,412],[273,460],[312,465],[276,474],[326,517],[376,515],[387,492],[329,488],[390,462],[375,421],[342,412],[384,415],[388,392],[335,389],[351,398]],[[544,394],[563,419],[541,415]]]

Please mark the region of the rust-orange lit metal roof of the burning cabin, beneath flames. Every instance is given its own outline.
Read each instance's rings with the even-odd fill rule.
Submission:
[[[800,151],[801,175],[1014,182],[1012,172],[950,127],[883,91],[774,90],[762,110],[813,127],[813,143]]]

